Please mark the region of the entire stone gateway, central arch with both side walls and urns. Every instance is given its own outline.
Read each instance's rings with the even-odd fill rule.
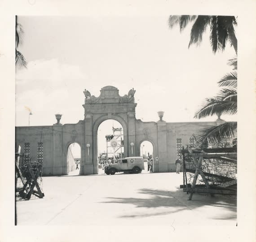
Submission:
[[[114,86],[105,86],[98,97],[84,90],[84,120],[76,124],[60,123],[61,114],[56,114],[57,123],[50,126],[16,127],[16,149],[26,159],[43,162],[43,175],[68,173],[67,150],[71,143],[81,147],[80,174],[97,174],[97,130],[107,120],[118,121],[124,129],[124,156],[140,156],[140,145],[150,141],[153,145],[154,172],[174,172],[175,160],[181,145],[190,144],[190,137],[200,129],[215,122],[167,123],[163,112],[159,121],[143,122],[135,117],[137,104],[135,90],[120,96]]]

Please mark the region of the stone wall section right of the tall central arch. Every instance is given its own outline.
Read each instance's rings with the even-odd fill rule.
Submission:
[[[216,126],[216,122],[167,123],[136,120],[137,156],[140,154],[141,143],[150,141],[153,145],[154,172],[175,172],[177,149],[190,145],[190,138],[193,140],[192,136],[207,126]]]

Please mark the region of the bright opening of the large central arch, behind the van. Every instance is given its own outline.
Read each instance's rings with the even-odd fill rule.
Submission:
[[[98,174],[104,174],[107,162],[124,158],[124,128],[116,120],[103,121],[97,130]]]

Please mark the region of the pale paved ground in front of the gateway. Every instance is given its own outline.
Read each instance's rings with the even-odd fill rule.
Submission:
[[[188,201],[180,184],[182,173],[43,177],[43,199],[17,202],[18,225],[236,225],[235,197]]]

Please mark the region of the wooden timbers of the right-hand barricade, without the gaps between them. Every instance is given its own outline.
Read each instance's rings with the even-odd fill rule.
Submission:
[[[232,164],[237,164],[237,148],[229,147],[229,148],[205,148],[203,150],[191,149],[187,147],[184,149],[182,147],[181,151],[183,155],[183,191],[186,191],[189,195],[188,200],[192,199],[194,193],[209,193],[212,196],[214,194],[237,194],[237,179],[234,177],[224,177],[219,174],[214,173],[206,173],[202,170],[202,161],[203,159],[218,159],[225,162],[230,162]],[[186,168],[185,156],[190,159],[192,158],[195,169]],[[192,184],[188,184],[187,182],[187,172],[194,173],[194,178]],[[196,185],[198,180],[198,176],[201,175],[204,185]],[[207,177],[216,177],[222,179],[223,183],[220,185],[210,185]]]

